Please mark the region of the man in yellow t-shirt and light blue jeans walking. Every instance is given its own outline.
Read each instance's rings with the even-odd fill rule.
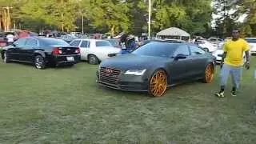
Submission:
[[[224,54],[221,62],[221,90],[215,94],[219,98],[224,98],[224,90],[226,82],[231,74],[233,88],[231,91],[232,96],[237,96],[237,90],[240,85],[242,76],[242,66],[244,65],[243,54],[246,53],[246,70],[250,69],[248,43],[240,38],[240,31],[233,30],[232,39],[224,44]],[[223,64],[224,61],[224,64]]]

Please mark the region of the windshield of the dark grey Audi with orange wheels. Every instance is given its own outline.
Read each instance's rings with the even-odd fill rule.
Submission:
[[[170,58],[178,47],[176,43],[150,42],[134,50],[133,54]]]

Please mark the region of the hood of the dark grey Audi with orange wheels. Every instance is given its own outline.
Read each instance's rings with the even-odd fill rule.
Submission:
[[[106,59],[101,63],[101,66],[121,70],[140,70],[149,68],[150,66],[160,66],[167,62],[168,59],[169,58],[142,56],[136,54],[124,54],[114,58]]]

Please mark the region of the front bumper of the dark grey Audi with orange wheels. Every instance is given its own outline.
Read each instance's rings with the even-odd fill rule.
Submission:
[[[105,86],[110,89],[124,90],[124,91],[147,91],[148,90],[148,80],[143,78],[143,76],[134,75],[124,75],[121,74],[117,82],[113,82],[110,79],[100,76],[97,72],[96,82],[100,86]]]

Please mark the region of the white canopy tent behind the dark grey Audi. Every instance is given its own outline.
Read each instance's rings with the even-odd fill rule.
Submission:
[[[181,30],[177,27],[170,27],[166,30],[162,30],[158,32],[157,38],[175,38],[175,39],[189,39],[190,40],[190,34],[188,34],[186,31]]]

